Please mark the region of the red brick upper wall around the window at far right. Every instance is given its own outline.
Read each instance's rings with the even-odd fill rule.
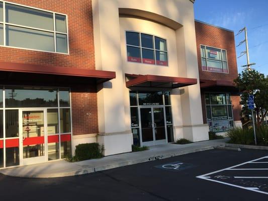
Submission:
[[[195,28],[200,79],[233,81],[237,77],[234,33],[200,22],[195,22]],[[201,65],[200,45],[226,49],[229,73],[203,71]]]

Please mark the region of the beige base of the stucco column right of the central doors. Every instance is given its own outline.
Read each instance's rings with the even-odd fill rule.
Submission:
[[[209,126],[207,124],[194,126],[176,126],[175,140],[186,138],[191,142],[209,140]]]

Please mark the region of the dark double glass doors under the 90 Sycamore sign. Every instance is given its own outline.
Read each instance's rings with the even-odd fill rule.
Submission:
[[[167,143],[164,107],[140,108],[141,145]]]

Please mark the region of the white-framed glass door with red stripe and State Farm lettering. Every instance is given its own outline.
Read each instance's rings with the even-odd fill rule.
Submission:
[[[29,165],[46,161],[45,110],[20,110],[21,164]]]

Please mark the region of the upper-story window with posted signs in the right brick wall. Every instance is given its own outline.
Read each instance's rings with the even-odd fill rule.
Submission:
[[[228,73],[226,50],[201,45],[202,70]]]

